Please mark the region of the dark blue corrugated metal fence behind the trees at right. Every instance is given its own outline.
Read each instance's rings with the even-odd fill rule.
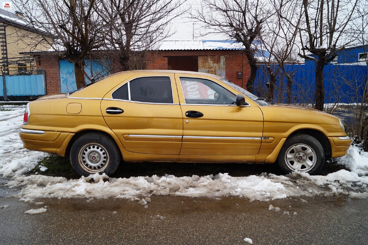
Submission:
[[[255,93],[267,97],[266,83],[270,81],[267,65],[260,65],[254,82]],[[273,102],[287,102],[286,76],[277,73],[278,65],[270,65],[276,74]],[[313,64],[285,65],[288,74],[292,74],[291,103],[314,102],[315,69]],[[360,65],[326,65],[323,69],[325,85],[325,103],[359,103],[367,82],[367,67]]]

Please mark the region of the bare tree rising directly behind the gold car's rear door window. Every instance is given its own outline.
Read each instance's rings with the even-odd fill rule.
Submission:
[[[106,48],[118,58],[121,70],[144,69],[149,52],[171,35],[170,22],[182,13],[173,0],[105,0],[98,8],[106,23]]]

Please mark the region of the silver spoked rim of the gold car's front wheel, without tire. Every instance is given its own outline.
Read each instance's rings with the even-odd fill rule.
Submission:
[[[309,145],[294,144],[285,152],[286,166],[292,171],[308,172],[316,165],[316,153]]]

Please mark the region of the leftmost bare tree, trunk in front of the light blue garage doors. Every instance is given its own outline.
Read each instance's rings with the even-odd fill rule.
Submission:
[[[14,4],[24,13],[22,21],[60,58],[74,64],[77,88],[85,86],[84,60],[104,44],[101,32],[107,24],[96,14],[95,0],[15,0]]]

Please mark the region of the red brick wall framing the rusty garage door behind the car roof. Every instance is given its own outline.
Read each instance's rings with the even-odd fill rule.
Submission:
[[[168,50],[158,51],[149,57],[147,69],[167,70],[167,58],[164,56],[225,56],[225,78],[245,88],[250,76],[248,59],[240,50]],[[242,78],[237,78],[237,72],[243,72]]]

